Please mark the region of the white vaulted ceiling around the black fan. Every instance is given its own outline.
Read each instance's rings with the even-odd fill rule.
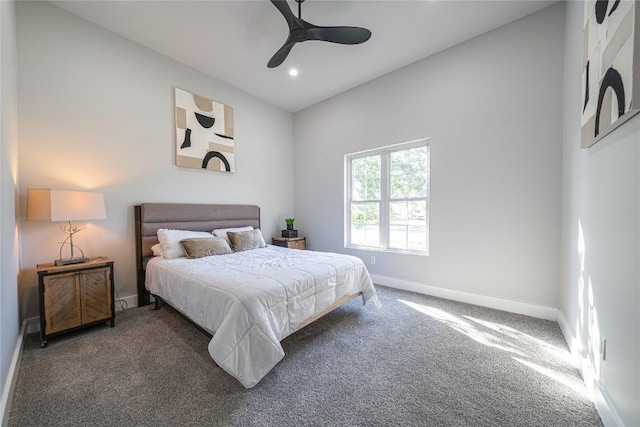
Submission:
[[[306,21],[365,27],[371,39],[360,45],[298,43],[272,69],[267,62],[284,44],[288,27],[268,0],[51,3],[296,112],[555,1],[307,0]],[[297,3],[289,5],[297,15]],[[291,68],[298,70],[296,77],[289,75]]]

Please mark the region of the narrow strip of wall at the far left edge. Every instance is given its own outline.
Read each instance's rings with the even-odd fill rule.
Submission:
[[[0,421],[9,403],[18,342],[18,99],[16,17],[13,1],[0,1]]]

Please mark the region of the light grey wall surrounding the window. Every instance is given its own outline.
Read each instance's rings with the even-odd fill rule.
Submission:
[[[552,6],[297,113],[296,224],[308,246],[360,256],[391,284],[554,312],[563,10]],[[421,137],[431,138],[429,256],[345,250],[343,156]]]

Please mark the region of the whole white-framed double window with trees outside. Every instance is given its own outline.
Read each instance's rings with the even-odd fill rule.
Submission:
[[[427,139],[348,154],[346,246],[429,252]]]

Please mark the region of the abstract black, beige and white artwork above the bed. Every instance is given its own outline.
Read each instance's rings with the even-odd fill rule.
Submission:
[[[176,165],[235,171],[233,108],[175,88]]]

